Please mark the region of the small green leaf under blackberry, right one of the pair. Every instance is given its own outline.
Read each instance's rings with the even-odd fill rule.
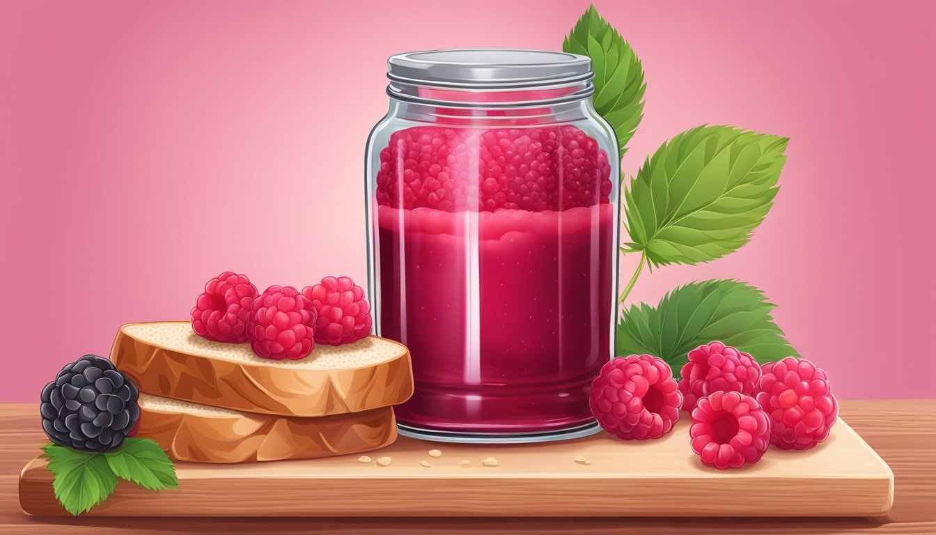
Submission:
[[[177,488],[175,467],[159,445],[146,438],[127,438],[114,452],[104,453],[117,477],[149,490]]]

